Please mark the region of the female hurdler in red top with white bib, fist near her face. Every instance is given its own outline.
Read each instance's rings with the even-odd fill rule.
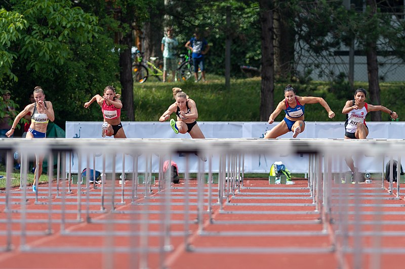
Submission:
[[[101,126],[101,136],[114,136],[114,138],[127,138],[123,125],[121,124],[121,108],[123,103],[119,100],[120,95],[115,93],[113,86],[104,88],[104,95],[94,95],[90,101],[85,103],[86,109],[94,102],[101,107],[104,123]]]

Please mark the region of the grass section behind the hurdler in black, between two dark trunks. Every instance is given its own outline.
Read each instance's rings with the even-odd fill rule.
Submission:
[[[135,84],[135,120],[157,121],[174,102],[173,87],[182,88],[196,102],[199,121],[259,119],[260,82],[257,79],[232,80],[229,90],[220,77],[207,76],[207,79],[208,83],[147,81]]]

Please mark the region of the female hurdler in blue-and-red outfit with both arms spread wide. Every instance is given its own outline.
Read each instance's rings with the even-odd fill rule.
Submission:
[[[277,138],[288,132],[293,132],[293,137],[295,138],[298,134],[302,133],[305,130],[304,112],[305,104],[307,103],[320,103],[328,112],[329,118],[335,117],[335,113],[322,97],[295,95],[295,90],[291,84],[286,86],[284,96],[286,98],[278,103],[276,109],[270,115],[268,123],[272,124],[282,110],[286,112],[286,117],[277,126],[267,131],[264,134],[264,138]]]

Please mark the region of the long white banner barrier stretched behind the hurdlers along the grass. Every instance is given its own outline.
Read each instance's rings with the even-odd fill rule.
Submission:
[[[187,134],[175,134],[170,127],[169,122],[123,122],[123,128],[130,138],[191,138]],[[206,138],[261,138],[264,132],[275,127],[278,122],[268,124],[266,122],[198,122],[198,125],[203,131]],[[102,122],[66,122],[66,138],[99,138],[113,139],[112,137],[101,137]],[[370,134],[368,138],[374,139],[403,139],[404,122],[370,122],[368,123]],[[343,122],[306,122],[305,131],[298,136],[299,138],[335,138],[343,139],[344,123]],[[292,138],[292,132],[280,136],[280,138]],[[135,153],[135,152],[134,152]],[[151,152],[153,153],[153,152]],[[93,168],[93,157],[96,160],[96,170],[102,170],[102,157],[91,156],[90,168]],[[185,157],[176,154],[172,156],[174,162],[178,164],[179,172],[184,172]],[[189,172],[197,172],[197,156],[190,156]],[[245,173],[268,173],[270,166],[281,161],[292,173],[307,173],[308,172],[308,155],[290,154],[290,152],[274,152],[272,154],[257,154],[245,156]],[[387,158],[375,158],[373,156],[360,156],[355,159],[355,165],[362,172],[381,172],[382,163],[387,162]],[[142,172],[147,169],[146,160],[140,156],[138,160],[138,171]],[[213,159],[213,171],[218,171],[219,159]],[[67,168],[69,163],[66,164]],[[72,171],[78,171],[77,155],[72,158]],[[116,156],[116,173],[124,170],[127,173],[132,173],[133,157],[126,155],[125,163],[121,156]],[[86,159],[82,160],[80,168],[83,170],[87,166]],[[336,171],[348,171],[346,164],[337,161],[333,164]],[[158,157],[152,157],[151,169],[153,173],[158,172]],[[205,169],[208,169],[208,163],[205,163]],[[106,172],[112,171],[112,157],[106,159]]]

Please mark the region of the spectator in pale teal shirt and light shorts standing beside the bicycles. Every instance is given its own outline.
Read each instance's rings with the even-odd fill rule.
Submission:
[[[172,71],[172,81],[176,79],[177,59],[176,47],[179,44],[173,36],[173,28],[169,28],[167,36],[161,39],[161,52],[163,52],[163,82],[166,82],[168,71]]]

